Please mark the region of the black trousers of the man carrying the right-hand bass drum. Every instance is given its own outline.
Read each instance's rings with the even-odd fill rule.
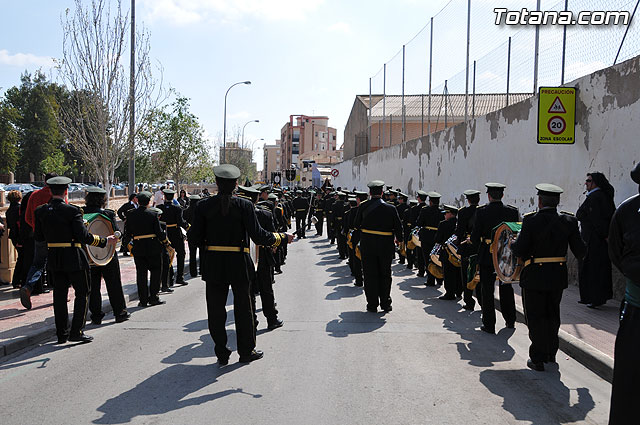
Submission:
[[[496,310],[493,294],[496,286],[496,272],[493,265],[480,265],[480,290],[482,291],[482,324],[489,328],[496,327]],[[498,285],[498,294],[500,296],[500,310],[502,317],[507,323],[515,323],[516,321],[516,300],[513,295],[513,287],[511,285]]]

